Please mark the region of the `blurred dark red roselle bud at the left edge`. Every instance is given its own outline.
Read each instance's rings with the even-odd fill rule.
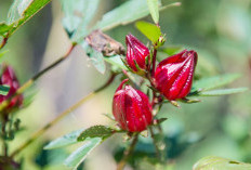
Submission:
[[[2,65],[2,74],[0,77],[0,84],[6,84],[10,87],[8,95],[0,95],[0,103],[12,96],[19,88],[19,82],[16,79],[15,73],[11,66]],[[11,100],[8,109],[13,107],[19,107],[23,104],[23,95],[16,95]]]

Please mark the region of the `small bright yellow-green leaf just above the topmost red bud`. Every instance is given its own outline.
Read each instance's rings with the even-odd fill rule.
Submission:
[[[146,36],[153,43],[157,42],[161,36],[160,28],[147,22],[136,22],[136,28]]]

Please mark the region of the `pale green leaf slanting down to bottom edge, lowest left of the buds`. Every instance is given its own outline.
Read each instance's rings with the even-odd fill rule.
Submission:
[[[81,147],[79,147],[77,151],[70,154],[70,156],[65,160],[64,164],[69,168],[77,169],[77,167],[98,144],[101,144],[101,138],[90,139]]]

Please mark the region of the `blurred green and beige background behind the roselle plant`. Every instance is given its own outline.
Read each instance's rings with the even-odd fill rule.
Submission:
[[[98,21],[105,12],[124,1],[101,1],[95,19]],[[0,21],[6,17],[11,3],[10,0],[0,0]],[[69,49],[70,41],[62,26],[62,17],[61,5],[54,0],[10,38],[5,47],[9,51],[0,60],[13,65],[21,83]],[[144,19],[151,22],[150,16]],[[198,78],[239,73],[242,77],[229,87],[251,87],[251,0],[182,0],[182,6],[160,13],[160,26],[167,34],[168,45],[183,45],[198,51]],[[124,44],[124,36],[129,32],[147,42],[133,24],[117,27],[107,34]],[[159,57],[166,56],[162,54]],[[25,130],[11,143],[11,149],[100,87],[106,78],[108,73],[101,75],[82,49],[77,47],[68,60],[25,93],[36,95],[29,107],[16,114]],[[48,154],[42,152],[43,144],[72,130],[110,125],[103,114],[111,113],[113,94],[118,84],[119,79],[22,152],[18,159],[23,160],[24,169],[67,170],[62,160],[76,146]],[[174,141],[169,143],[173,148],[170,160],[175,162],[174,170],[191,169],[198,159],[210,155],[251,162],[250,91],[202,99],[198,104],[182,104],[179,109],[166,105],[160,115],[169,118],[163,127],[168,136]],[[103,143],[85,160],[85,169],[115,169],[113,151],[120,142],[121,136],[116,135]],[[179,142],[184,142],[184,145],[175,145]]]

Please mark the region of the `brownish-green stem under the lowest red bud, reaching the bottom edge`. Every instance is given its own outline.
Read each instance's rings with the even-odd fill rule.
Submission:
[[[133,151],[136,146],[137,139],[138,139],[138,133],[135,134],[130,147],[123,153],[123,158],[119,161],[119,164],[117,166],[117,170],[123,170],[123,168],[128,161],[128,158],[131,156],[131,154],[133,153]]]

